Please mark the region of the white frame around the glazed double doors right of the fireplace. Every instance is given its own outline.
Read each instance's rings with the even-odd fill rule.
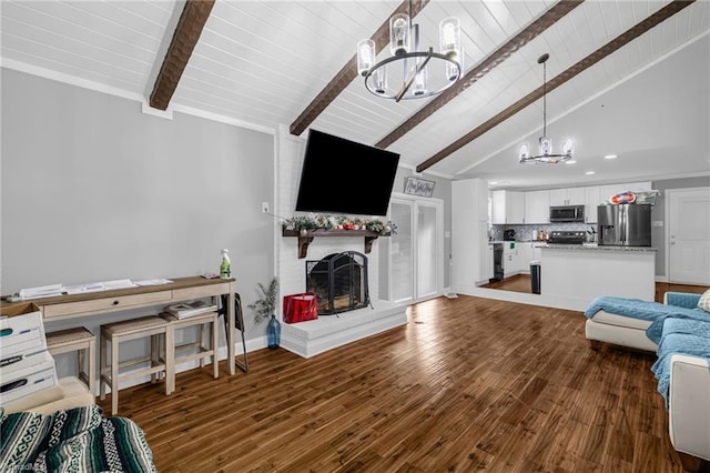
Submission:
[[[409,300],[400,301],[403,303],[415,303],[428,299],[437,298],[444,294],[444,200],[436,198],[420,198],[417,195],[405,194],[402,192],[393,192],[390,199],[398,201],[412,202],[412,278],[409,280],[412,298]],[[418,205],[427,205],[436,208],[436,292],[422,298],[417,294],[416,275],[418,273],[417,261],[417,227],[418,227]],[[389,212],[387,212],[389,217]],[[397,223],[397,222],[394,222]],[[387,294],[392,300],[392,254],[387,252]]]

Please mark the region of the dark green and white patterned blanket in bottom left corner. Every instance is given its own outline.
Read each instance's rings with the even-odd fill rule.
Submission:
[[[0,472],[155,472],[143,431],[98,405],[0,416]]]

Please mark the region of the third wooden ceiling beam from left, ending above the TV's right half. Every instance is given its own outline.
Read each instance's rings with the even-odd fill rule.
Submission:
[[[476,64],[474,68],[469,69],[468,72],[466,72],[466,74],[454,85],[452,85],[436,99],[433,99],[432,101],[429,101],[429,103],[417,110],[404,123],[402,123],[399,127],[389,132],[389,134],[375,143],[375,147],[387,148],[392,143],[404,137],[416,125],[433,115],[438,109],[454,100],[458,94],[464,92],[476,81],[490,72],[490,70],[493,70],[495,67],[508,59],[510,54],[532,41],[542,31],[547,30],[559,19],[579,7],[582,1],[584,0],[562,0],[556,3],[552,8],[547,10],[542,16],[540,16],[537,20],[526,27],[523,31],[510,38],[508,42],[490,53],[486,59]]]

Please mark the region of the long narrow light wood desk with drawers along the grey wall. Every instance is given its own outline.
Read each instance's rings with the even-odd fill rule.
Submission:
[[[138,288],[116,289],[111,291],[90,292],[87,294],[65,294],[54,298],[32,299],[42,310],[45,321],[85,318],[108,312],[155,305],[174,304],[192,299],[211,298],[226,294],[227,298],[227,333],[226,353],[230,374],[234,374],[234,293],[233,279],[205,279],[202,276],[169,278],[172,283],[160,285],[141,285]]]

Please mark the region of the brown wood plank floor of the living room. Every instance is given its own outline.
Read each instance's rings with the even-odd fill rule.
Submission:
[[[163,473],[681,472],[653,355],[590,350],[581,313],[459,296],[408,318],[308,360],[179,373],[170,396],[123,390],[119,415]]]

